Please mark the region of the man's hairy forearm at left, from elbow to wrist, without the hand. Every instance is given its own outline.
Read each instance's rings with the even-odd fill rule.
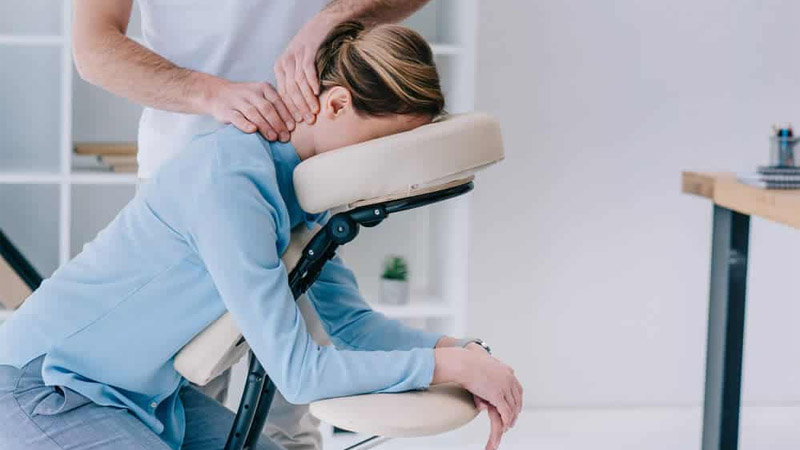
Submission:
[[[122,33],[95,34],[75,49],[83,78],[116,95],[152,108],[204,113],[211,75],[178,67]]]

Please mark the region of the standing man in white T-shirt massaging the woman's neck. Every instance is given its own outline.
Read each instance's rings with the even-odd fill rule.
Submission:
[[[348,19],[399,21],[427,1],[139,0],[142,45],[125,36],[133,0],[75,0],[75,63],[86,81],[145,106],[138,161],[147,179],[227,123],[288,141],[319,111],[314,55],[328,31]],[[207,393],[224,401],[226,389],[227,376]],[[279,397],[270,437],[287,449],[321,448],[307,406]]]

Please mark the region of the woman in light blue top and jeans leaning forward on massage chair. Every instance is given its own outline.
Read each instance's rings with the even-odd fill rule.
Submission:
[[[0,327],[0,448],[222,448],[232,414],[172,358],[225,310],[290,402],[456,382],[489,409],[498,445],[522,405],[513,371],[374,313],[339,259],[309,293],[336,348],[307,333],[280,255],[294,226],[325,217],[300,209],[294,167],[444,106],[431,50],[406,28],[343,23],[316,65],[315,124],[289,144],[233,127],[197,139]]]

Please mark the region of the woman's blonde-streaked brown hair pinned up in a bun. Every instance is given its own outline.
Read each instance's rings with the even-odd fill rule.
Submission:
[[[316,68],[322,89],[346,88],[358,112],[435,118],[444,111],[433,51],[409,28],[342,22],[320,45]]]

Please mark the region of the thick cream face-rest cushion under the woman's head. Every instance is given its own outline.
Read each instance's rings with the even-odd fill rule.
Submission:
[[[295,168],[294,188],[300,206],[319,213],[370,199],[410,197],[468,178],[501,159],[496,120],[481,113],[455,114],[309,158]]]

